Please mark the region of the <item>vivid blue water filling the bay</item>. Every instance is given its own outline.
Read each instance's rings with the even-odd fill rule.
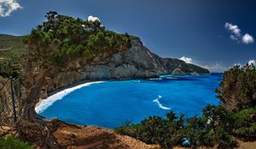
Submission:
[[[67,123],[120,126],[126,120],[138,123],[145,117],[165,117],[172,110],[185,117],[201,116],[207,104],[218,105],[214,90],[222,74],[161,76],[160,78],[93,83],[65,95],[39,112]]]

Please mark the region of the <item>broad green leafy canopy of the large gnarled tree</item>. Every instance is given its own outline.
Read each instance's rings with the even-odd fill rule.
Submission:
[[[31,60],[41,66],[64,67],[74,60],[84,64],[97,56],[109,58],[131,46],[129,35],[110,32],[98,20],[74,19],[53,11],[45,17],[47,20],[24,40]]]

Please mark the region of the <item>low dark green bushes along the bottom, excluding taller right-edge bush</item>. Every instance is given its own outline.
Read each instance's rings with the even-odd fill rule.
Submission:
[[[130,135],[148,144],[160,144],[171,148],[188,139],[192,147],[197,146],[234,146],[234,113],[223,106],[206,106],[202,117],[184,118],[174,112],[168,112],[166,118],[148,117],[141,123],[130,123],[115,129],[123,135]],[[245,123],[241,120],[242,123]]]

